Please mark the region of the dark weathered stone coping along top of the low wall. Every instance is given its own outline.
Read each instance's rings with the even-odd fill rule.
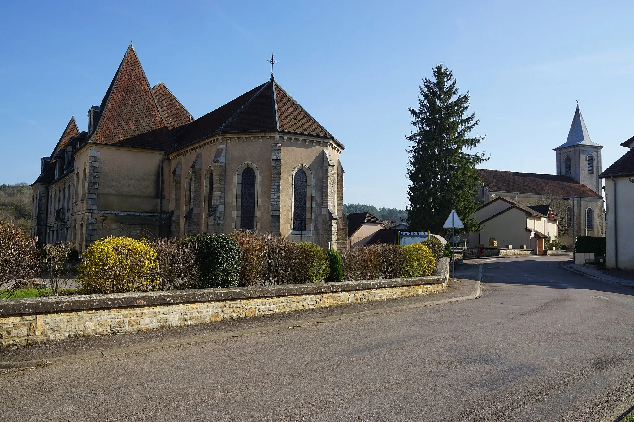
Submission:
[[[159,292],[132,292],[0,301],[0,315],[48,314],[82,311],[86,309],[112,309],[134,306],[159,306],[179,303],[231,301],[292,295],[310,295],[351,290],[384,289],[389,287],[441,284],[448,280],[449,258],[441,258],[434,273],[427,277],[388,278],[356,282],[306,283],[274,286],[221,287],[217,289],[169,290]]]

